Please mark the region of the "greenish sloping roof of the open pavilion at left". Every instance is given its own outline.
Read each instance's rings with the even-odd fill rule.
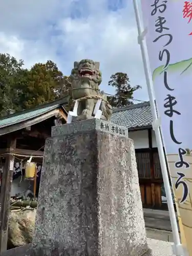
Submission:
[[[0,129],[9,125],[13,125],[19,122],[24,122],[29,119],[46,114],[58,108],[62,104],[62,102],[65,103],[65,99],[56,100],[51,103],[42,104],[40,106],[37,106],[36,108],[32,108],[29,110],[25,110],[22,112],[17,112],[15,114],[5,116],[0,119]]]

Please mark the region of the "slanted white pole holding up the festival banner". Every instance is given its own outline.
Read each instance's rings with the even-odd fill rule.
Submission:
[[[141,0],[141,1],[144,1],[144,0]],[[166,198],[167,198],[167,205],[168,205],[168,211],[169,211],[169,216],[170,216],[170,224],[172,226],[173,238],[174,238],[174,243],[175,243],[174,252],[176,255],[184,255],[182,245],[180,244],[179,231],[178,231],[178,227],[177,227],[174,203],[173,203],[173,199],[172,199],[172,192],[170,190],[166,160],[165,160],[165,155],[163,152],[163,142],[162,142],[162,137],[161,137],[161,133],[160,133],[160,119],[157,117],[157,112],[156,112],[151,70],[150,70],[150,66],[148,65],[148,61],[147,61],[148,53],[147,53],[147,48],[146,48],[146,42],[144,39],[144,36],[147,31],[146,30],[142,31],[142,25],[141,25],[141,19],[140,19],[139,7],[138,7],[137,0],[133,0],[133,5],[134,5],[134,10],[135,10],[136,23],[137,23],[138,35],[139,35],[138,42],[141,47],[141,54],[142,54],[148,96],[150,98],[150,104],[151,104],[151,109],[152,109],[153,129],[155,131],[155,135],[156,135],[156,139],[157,139],[157,147],[158,147],[159,159],[160,159],[160,164],[161,164],[165,194],[166,194]]]

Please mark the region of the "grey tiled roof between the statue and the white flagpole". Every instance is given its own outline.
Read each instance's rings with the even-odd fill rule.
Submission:
[[[151,126],[153,118],[150,102],[114,109],[111,121],[129,129],[141,129],[142,127]]]

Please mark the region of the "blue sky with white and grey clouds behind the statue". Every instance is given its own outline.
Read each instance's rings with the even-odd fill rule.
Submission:
[[[74,61],[100,61],[102,90],[113,94],[111,74],[126,72],[142,86],[134,97],[148,100],[131,0],[6,0],[0,13],[1,53],[28,68],[51,59],[65,75]]]

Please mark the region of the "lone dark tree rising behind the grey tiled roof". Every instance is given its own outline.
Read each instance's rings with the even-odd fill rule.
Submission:
[[[112,106],[117,108],[133,104],[133,93],[141,88],[140,86],[132,87],[129,76],[121,72],[111,75],[108,84],[116,88],[115,96],[108,97],[108,100]]]

